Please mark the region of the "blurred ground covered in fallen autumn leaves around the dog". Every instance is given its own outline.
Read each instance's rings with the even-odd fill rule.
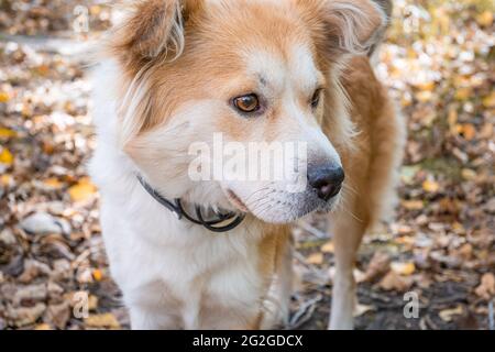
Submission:
[[[397,220],[360,252],[356,328],[495,329],[495,3],[394,3],[377,73],[409,139]],[[114,15],[96,0],[0,0],[0,329],[129,328],[86,170],[87,50]],[[290,328],[327,327],[324,227],[317,215],[294,230]]]

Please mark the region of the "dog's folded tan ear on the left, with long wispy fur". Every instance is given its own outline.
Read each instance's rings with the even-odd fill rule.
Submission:
[[[184,25],[201,0],[133,0],[124,3],[124,18],[111,33],[110,47],[119,57],[145,63],[184,50]]]

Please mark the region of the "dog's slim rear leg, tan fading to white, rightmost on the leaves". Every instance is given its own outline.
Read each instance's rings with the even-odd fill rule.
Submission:
[[[331,330],[351,330],[354,327],[353,311],[356,304],[353,268],[365,226],[349,213],[336,213],[332,217],[332,228],[336,275],[329,328]]]

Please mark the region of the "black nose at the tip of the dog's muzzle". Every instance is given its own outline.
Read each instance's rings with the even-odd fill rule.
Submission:
[[[339,194],[344,177],[341,166],[323,164],[308,167],[309,185],[316,189],[318,197],[326,201]]]

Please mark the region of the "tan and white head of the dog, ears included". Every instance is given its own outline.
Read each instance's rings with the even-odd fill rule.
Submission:
[[[353,133],[339,73],[385,24],[369,0],[134,1],[108,46],[122,147],[167,197],[275,223],[330,210]]]

